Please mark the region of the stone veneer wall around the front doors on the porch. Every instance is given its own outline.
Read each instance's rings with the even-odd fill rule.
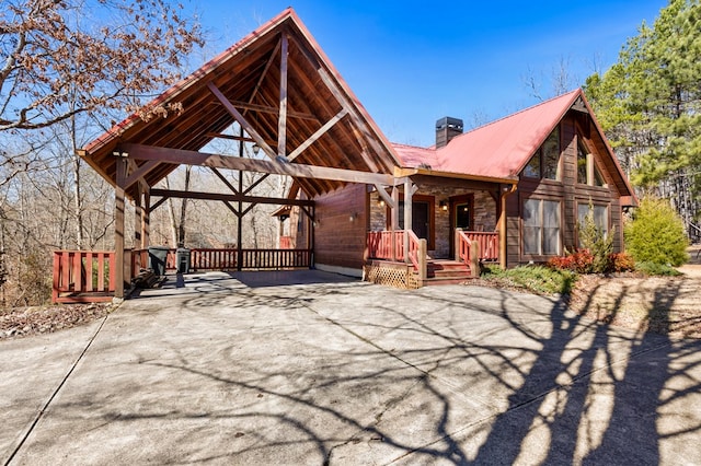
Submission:
[[[474,229],[478,231],[493,232],[496,230],[496,201],[486,191],[475,191],[469,189],[455,189],[441,187],[422,187],[417,195],[435,197],[436,219],[434,222],[435,249],[428,255],[434,258],[447,258],[450,253],[450,212],[440,209],[440,201],[448,202],[452,196],[473,195],[474,196]],[[377,193],[370,195],[370,231],[382,231],[387,229],[388,219],[386,206],[380,206],[380,197]],[[400,212],[400,215],[403,214]]]

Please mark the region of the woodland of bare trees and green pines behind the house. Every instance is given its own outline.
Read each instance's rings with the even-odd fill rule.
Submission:
[[[51,251],[113,248],[114,191],[76,150],[198,67],[204,33],[165,0],[4,0],[0,7],[0,307],[50,298]],[[654,24],[621,45],[618,62],[572,82],[566,60],[549,98],[584,86],[639,195],[668,199],[698,238],[701,190],[701,5],[670,0]],[[176,106],[146,118],[161,118]],[[479,120],[479,118],[475,118]],[[238,132],[237,128],[231,131]],[[214,143],[212,143],[214,144]],[[218,141],[208,152],[253,156]],[[232,184],[238,173],[232,172]],[[243,176],[251,176],[243,174]],[[216,176],[183,167],[172,189],[203,190]],[[245,179],[244,186],[251,180]],[[289,182],[269,176],[261,195]],[[243,218],[244,247],[274,247],[275,207]],[[127,212],[127,221],[134,219]],[[133,231],[127,226],[127,231]],[[223,205],[169,200],[152,212],[151,243],[235,244],[237,218]],[[128,240],[127,240],[128,241]],[[127,242],[127,247],[130,244]]]

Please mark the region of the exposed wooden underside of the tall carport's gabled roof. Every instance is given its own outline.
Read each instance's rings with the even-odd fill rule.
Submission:
[[[151,118],[133,115],[88,144],[81,155],[116,185],[118,158],[113,154],[128,152],[127,144],[199,151],[239,120],[246,140],[262,142],[261,156],[266,154],[273,163],[280,163],[277,155],[284,155],[290,164],[390,175],[400,165],[291,9],[168,90],[146,113],[170,104],[182,105],[182,112]],[[187,163],[162,152],[158,163],[129,155],[134,159],[130,172],[139,171],[140,179],[154,186],[179,164]],[[309,196],[346,183],[323,175],[295,179]],[[135,197],[136,189],[133,185],[127,196]]]

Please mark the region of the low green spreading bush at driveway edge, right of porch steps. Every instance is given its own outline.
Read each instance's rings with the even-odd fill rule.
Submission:
[[[501,287],[524,288],[538,294],[566,294],[572,290],[576,275],[570,270],[556,270],[542,266],[515,267],[503,270],[485,267],[482,278]]]

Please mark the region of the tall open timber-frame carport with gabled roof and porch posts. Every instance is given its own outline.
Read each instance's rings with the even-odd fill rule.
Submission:
[[[237,154],[207,152],[207,144],[214,140],[237,141]],[[166,199],[223,202],[239,220],[237,267],[243,264],[241,219],[253,206],[296,207],[307,221],[309,235],[302,249],[309,251],[309,265],[313,267],[315,199],[353,184],[371,187],[389,207],[389,229],[397,232],[400,214],[404,224],[412,225],[412,196],[418,184],[429,178],[462,178],[461,182],[489,185],[501,206],[497,257],[505,266],[504,206],[517,180],[466,178],[430,168],[403,167],[395,150],[291,9],[205,63],[79,153],[115,188],[115,251],[111,259],[114,268],[108,282],[116,299],[124,298],[125,286],[134,275],[131,249],[126,241],[127,200],[135,208],[134,249],[149,247],[150,214]],[[208,193],[160,187],[159,183],[181,165],[208,167],[222,186]],[[227,180],[223,170],[239,172],[238,186]],[[241,182],[244,172],[258,174],[249,186]],[[256,195],[256,186],[271,174],[292,178],[286,197]],[[415,240],[410,232],[404,233],[401,257],[412,264],[421,278],[427,275],[427,267],[421,265],[425,254],[417,252],[425,244],[422,246]],[[494,242],[490,244],[495,247]],[[464,245],[460,253],[462,260],[479,251],[469,241]],[[64,260],[68,259],[61,258],[59,264]],[[81,267],[73,265],[69,269],[76,271]],[[61,271],[59,277],[68,277],[70,281],[69,272]]]

